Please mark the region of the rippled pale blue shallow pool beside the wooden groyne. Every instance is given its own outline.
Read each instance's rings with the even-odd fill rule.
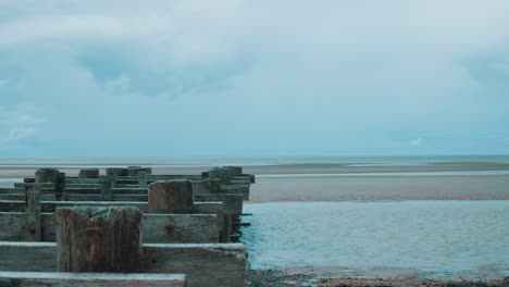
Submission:
[[[509,201],[247,203],[252,269],[489,266],[509,275]]]

